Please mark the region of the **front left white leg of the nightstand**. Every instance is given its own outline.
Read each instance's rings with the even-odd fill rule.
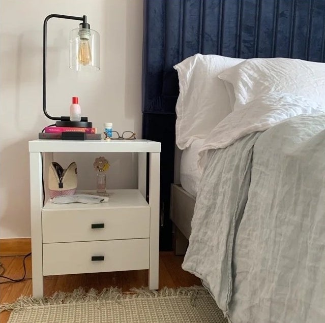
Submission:
[[[42,154],[29,153],[31,186],[31,233],[32,233],[32,279],[33,297],[43,297],[43,255],[42,255]]]

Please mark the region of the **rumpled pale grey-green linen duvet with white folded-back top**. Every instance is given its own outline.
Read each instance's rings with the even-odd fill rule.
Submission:
[[[182,265],[230,322],[325,322],[325,109],[272,93],[205,140]]]

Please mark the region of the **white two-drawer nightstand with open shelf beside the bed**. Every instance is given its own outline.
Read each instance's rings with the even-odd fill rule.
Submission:
[[[43,276],[121,270],[149,269],[149,288],[158,289],[160,150],[150,140],[29,141],[33,297],[43,297]],[[108,203],[43,208],[42,153],[46,179],[53,152],[138,153],[138,188],[109,190]]]

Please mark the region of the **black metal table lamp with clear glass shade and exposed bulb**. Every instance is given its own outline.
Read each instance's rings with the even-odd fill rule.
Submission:
[[[70,121],[70,116],[52,117],[46,111],[46,28],[50,18],[82,21],[79,28],[70,31],[70,69],[99,71],[99,34],[97,31],[90,29],[87,17],[48,15],[43,24],[43,112],[47,118],[56,120],[56,126],[92,127],[92,122],[89,122],[87,117],[81,117],[80,121]]]

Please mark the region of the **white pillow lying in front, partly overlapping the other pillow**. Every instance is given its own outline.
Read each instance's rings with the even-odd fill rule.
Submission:
[[[325,105],[325,63],[251,58],[220,73],[219,78],[233,86],[233,110],[273,92],[296,94]]]

